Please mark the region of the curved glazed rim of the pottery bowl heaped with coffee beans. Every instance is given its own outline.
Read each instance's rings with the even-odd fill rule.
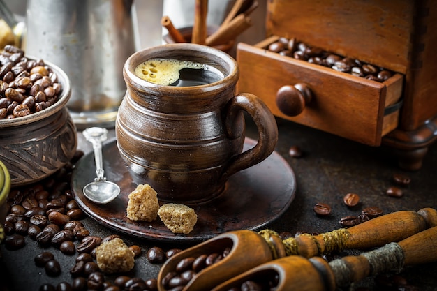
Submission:
[[[36,57],[31,57],[24,55],[29,60],[36,60]],[[56,73],[58,76],[58,82],[62,85],[61,96],[56,103],[53,105],[41,110],[39,112],[34,112],[24,117],[16,117],[13,119],[0,119],[0,128],[8,128],[13,126],[20,126],[23,124],[30,124],[41,119],[45,119],[46,117],[51,116],[52,114],[59,112],[59,110],[63,109],[71,97],[71,82],[68,78],[68,75],[59,68],[59,66],[53,64],[50,61],[44,61],[45,66],[48,66],[52,69],[53,73]]]

